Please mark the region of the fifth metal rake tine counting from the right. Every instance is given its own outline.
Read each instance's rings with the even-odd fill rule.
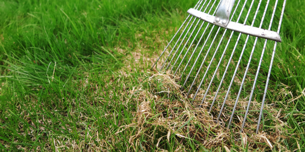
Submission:
[[[241,10],[240,13],[239,13],[238,20],[240,19],[240,16],[241,16],[241,14],[242,14],[242,12],[243,12],[243,9],[245,8],[246,2],[247,2],[247,0],[244,2],[244,5],[242,6],[242,10]],[[247,21],[247,19],[248,19],[250,10],[251,10],[251,8],[252,8],[252,6],[253,6],[253,2],[254,2],[254,0],[252,0],[252,2],[251,2],[251,5],[250,5],[250,8],[249,8],[248,13],[247,13],[247,15],[246,15],[244,24],[246,23],[246,21]],[[231,35],[232,35],[232,34],[233,34],[233,33],[231,33]],[[233,56],[233,54],[234,54],[234,51],[235,51],[235,49],[236,49],[236,46],[237,46],[237,43],[238,43],[238,41],[239,41],[240,35],[241,35],[241,33],[239,33],[239,36],[238,36],[238,38],[237,38],[237,40],[236,40],[235,47],[234,47],[234,49],[233,49],[233,51],[232,51],[232,54],[231,54],[231,57],[230,57],[230,60],[229,60],[228,64],[230,63],[231,58],[232,58],[232,56]],[[230,37],[231,37],[231,36],[230,36]],[[231,39],[229,39],[229,40],[231,40]],[[228,43],[229,43],[229,41],[228,41]],[[227,45],[228,45],[228,43],[227,43]],[[219,47],[219,45],[220,45],[220,43],[218,44],[218,47]],[[203,64],[203,63],[202,63],[202,64]],[[228,70],[228,65],[227,65],[226,71],[227,71],[227,70]],[[224,72],[224,75],[225,75],[226,71]],[[223,81],[223,79],[224,79],[224,75],[223,75],[223,77],[222,77],[221,83],[222,83],[222,81]],[[202,81],[202,82],[203,82],[203,81]],[[201,87],[201,85],[200,85],[200,87]],[[197,91],[196,91],[196,94],[195,94],[193,100],[195,100],[196,95],[197,95],[197,93],[199,92],[200,87],[197,88]],[[215,99],[216,99],[216,96],[217,96],[217,93],[218,93],[220,87],[221,87],[221,84],[219,85],[219,87],[218,87],[218,89],[217,89],[216,95],[215,95],[215,97],[214,97],[214,100],[213,100],[213,102],[212,102],[212,105],[211,105],[211,108],[210,108],[209,112],[210,112],[211,109],[212,109],[213,103],[215,102]],[[204,101],[204,99],[203,99],[203,101]],[[202,101],[202,103],[203,103],[203,101]]]

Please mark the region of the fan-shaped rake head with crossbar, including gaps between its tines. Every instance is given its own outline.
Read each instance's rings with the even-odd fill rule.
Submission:
[[[189,13],[188,17],[152,68],[160,58],[163,58],[165,61],[161,67],[157,68],[160,71],[170,70],[175,76],[179,76],[181,84],[183,84],[181,91],[185,89],[187,96],[192,93],[192,101],[199,107],[203,105],[203,102],[206,103],[208,92],[216,92],[213,95],[214,98],[211,99],[212,102],[209,103],[209,112],[213,109],[220,89],[225,88],[227,92],[221,103],[222,106],[217,117],[218,122],[230,92],[231,94],[238,92],[228,127],[232,122],[242,90],[244,90],[244,95],[247,96],[249,101],[241,131],[243,131],[246,122],[254,90],[258,90],[256,88],[257,80],[262,79],[263,81],[259,82],[264,83],[265,88],[257,123],[256,133],[258,133],[276,46],[278,42],[282,41],[279,31],[286,0],[280,2],[282,3],[282,10],[277,7],[278,0],[247,1],[199,0],[194,8],[187,11]],[[238,16],[235,15],[236,12],[239,12]],[[280,15],[277,16],[276,14],[279,13]],[[248,19],[252,19],[252,22]],[[272,23],[276,24],[274,26],[277,29],[272,26]],[[232,43],[230,43],[231,40]],[[267,40],[269,40],[268,43]],[[258,47],[256,48],[256,46]],[[262,65],[265,50],[270,50],[270,53],[272,50],[269,70],[267,78],[265,76],[259,78],[259,75],[262,75],[260,74],[260,67],[267,67],[267,65]],[[163,56],[165,52],[168,54],[167,56]],[[255,58],[256,55],[259,59]],[[254,61],[251,62],[252,58]],[[250,79],[253,79],[253,81],[250,81]],[[245,81],[249,82],[252,87],[249,87]],[[194,86],[197,87],[193,88]],[[204,96],[201,102],[196,103],[196,96],[202,87]],[[247,93],[245,93],[246,87],[251,88]]]

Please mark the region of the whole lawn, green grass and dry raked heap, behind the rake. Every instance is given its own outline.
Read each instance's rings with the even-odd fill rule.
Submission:
[[[207,2],[212,5],[214,0]],[[215,0],[215,5],[218,2]],[[237,12],[244,2],[240,1]],[[188,16],[186,11],[196,3],[196,0],[0,0],[0,151],[304,151],[303,1],[286,2],[279,33],[282,43],[277,44],[259,134],[255,134],[257,117],[274,42],[267,43],[244,133],[240,132],[241,123],[263,39],[257,41],[229,129],[228,119],[255,40],[253,36],[249,38],[251,45],[245,50],[236,83],[229,92],[221,123],[215,120],[247,37],[245,34],[241,35],[232,58],[234,64],[211,113],[208,109],[220,78],[211,85],[203,108],[198,108],[197,103],[203,98],[213,70],[207,73],[208,81],[204,81],[195,100],[192,97],[200,81],[186,95],[203,55],[183,92],[184,81],[174,77],[173,72],[159,73],[169,50],[157,67],[151,69]],[[250,3],[248,0],[245,12]],[[270,0],[269,7],[273,8],[274,3],[275,0]],[[283,0],[278,1],[273,31],[277,30],[282,4]],[[247,25],[251,25],[257,5],[255,1]],[[263,1],[261,7],[265,5]],[[270,21],[271,13],[272,9],[267,12],[265,22]],[[233,21],[238,18],[237,14]],[[256,27],[263,11],[257,16]],[[239,22],[245,18],[243,13]],[[262,28],[267,29],[268,24]],[[221,29],[217,43],[223,32]],[[225,41],[230,34],[228,30]],[[238,35],[235,32],[228,45],[224,68]],[[212,38],[207,40],[207,44],[211,42]],[[198,40],[194,45],[197,43]],[[204,68],[209,65],[217,43]],[[222,43],[214,60],[219,60],[224,48]],[[187,55],[188,59],[191,53]],[[214,69],[217,63],[213,62],[211,67]],[[220,75],[224,68],[220,68]],[[182,70],[178,69],[177,75]],[[190,70],[191,66],[186,67],[182,80]]]

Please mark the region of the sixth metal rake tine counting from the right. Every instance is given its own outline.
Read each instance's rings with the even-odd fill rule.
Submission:
[[[246,2],[247,2],[247,1],[245,1],[244,6],[245,6]],[[238,4],[239,4],[239,2],[238,2]],[[237,6],[238,6],[238,4],[237,4]],[[237,9],[237,6],[236,6],[236,9]],[[243,8],[244,8],[244,6],[243,6]],[[235,9],[235,10],[236,10],[236,9]],[[242,9],[242,10],[243,10],[243,9]],[[232,19],[232,18],[231,18],[231,19]],[[240,15],[239,15],[239,17],[238,17],[238,19],[237,19],[236,22],[238,22],[239,19],[240,19]],[[224,34],[226,33],[226,31],[227,31],[227,29],[224,31]],[[224,57],[224,54],[225,54],[226,51],[227,51],[228,45],[229,45],[229,43],[231,42],[231,38],[232,38],[232,36],[233,36],[233,33],[234,33],[234,31],[231,32],[231,35],[230,35],[229,40],[228,40],[228,42],[227,42],[227,45],[226,45],[226,47],[224,48],[224,52],[223,52],[222,55],[221,55],[221,58],[220,58],[220,60],[219,60],[219,62],[218,62],[218,64],[217,64],[217,67],[216,67],[216,69],[215,69],[215,72],[214,72],[214,74],[213,74],[213,77],[212,77],[212,79],[211,79],[211,81],[210,81],[210,83],[209,83],[208,88],[206,89],[206,93],[204,94],[204,96],[203,96],[203,98],[202,98],[202,100],[201,100],[201,103],[200,103],[199,108],[201,108],[201,106],[202,106],[202,104],[203,104],[203,101],[205,100],[206,95],[208,94],[208,92],[209,92],[209,90],[210,90],[210,87],[211,87],[212,82],[213,82],[213,80],[214,80],[214,78],[215,78],[215,75],[216,75],[216,73],[217,73],[217,70],[218,70],[218,68],[219,68],[219,66],[220,66],[220,64],[221,64],[221,61],[222,61],[222,59],[223,59],[223,57]],[[223,36],[224,36],[224,35],[223,35]],[[221,41],[222,41],[222,39],[221,39]],[[220,45],[221,41],[219,42],[218,46]],[[217,49],[218,49],[218,47],[217,47]],[[211,61],[212,61],[212,60],[211,60]],[[211,62],[210,62],[210,63],[211,63]],[[195,81],[193,81],[193,83],[194,83],[194,82],[195,82]],[[189,90],[189,91],[191,91],[191,90]]]

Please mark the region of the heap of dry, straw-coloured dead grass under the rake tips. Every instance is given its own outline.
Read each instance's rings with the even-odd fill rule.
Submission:
[[[223,122],[228,122],[230,114],[223,112],[220,123],[217,123],[217,117],[215,117],[219,113],[222,98],[215,102],[215,108],[212,110],[215,113],[209,113],[207,105],[210,102],[204,102],[203,108],[193,105],[185,96],[185,92],[180,91],[181,86],[176,81],[178,80],[166,73],[150,74],[140,85],[129,92],[130,99],[137,103],[137,112],[135,112],[133,123],[121,126],[120,131],[117,132],[129,130],[128,133],[131,133],[129,136],[131,147],[129,148],[135,151],[153,149],[184,151],[185,149],[211,148],[223,151],[230,149],[239,151],[246,148],[264,151],[273,149],[274,146],[278,149],[285,149],[281,144],[285,138],[281,135],[281,129],[275,127],[268,130],[268,133],[260,131],[259,134],[255,134],[257,120],[251,120],[252,123],[248,120],[244,129],[245,133],[241,133],[240,126],[244,112],[236,112],[231,128],[227,129],[227,124]],[[203,94],[203,90],[200,90],[198,98],[202,99]],[[209,98],[213,99],[213,95],[208,96],[207,100]],[[228,98],[226,107],[232,107],[233,100]],[[246,99],[239,102],[236,111],[244,109],[246,104]],[[253,101],[251,108],[250,110],[257,110],[260,108],[260,104]],[[270,113],[272,113],[270,105],[265,108],[270,109]],[[281,121],[276,117],[277,112],[273,113],[274,120]],[[249,116],[251,116],[250,113]],[[137,149],[137,147],[141,147],[141,149]]]

